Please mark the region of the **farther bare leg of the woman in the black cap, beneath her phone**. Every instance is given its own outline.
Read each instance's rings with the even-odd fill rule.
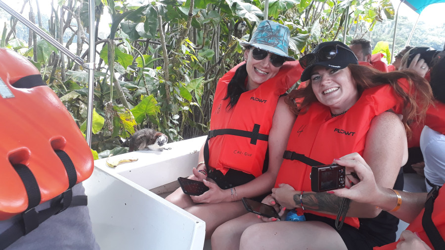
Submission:
[[[239,240],[250,225],[261,223],[256,214],[247,213],[219,226],[212,235],[212,250],[238,250]]]

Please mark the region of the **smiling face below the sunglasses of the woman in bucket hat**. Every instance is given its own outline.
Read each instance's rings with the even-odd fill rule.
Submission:
[[[252,49],[246,49],[244,58],[247,59],[247,90],[258,88],[263,82],[274,77],[280,70],[280,67],[274,67],[270,63],[270,55],[267,55],[263,60],[255,60],[252,57]]]

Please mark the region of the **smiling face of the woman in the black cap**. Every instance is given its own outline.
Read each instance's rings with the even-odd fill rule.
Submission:
[[[329,107],[334,114],[348,110],[359,97],[349,68],[335,70],[315,66],[311,73],[311,83],[317,100]]]

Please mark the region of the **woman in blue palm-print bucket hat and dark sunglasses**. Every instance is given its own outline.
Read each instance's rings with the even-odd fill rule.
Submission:
[[[210,190],[192,196],[178,188],[166,198],[203,219],[207,237],[223,222],[247,213],[241,198],[264,197],[273,187],[284,150],[275,145],[287,140],[292,123],[269,134],[272,119],[283,111],[275,110],[284,102],[280,96],[303,71],[287,53],[289,37],[289,28],[265,20],[250,42],[241,42],[245,62],[218,81],[209,136],[189,177]]]

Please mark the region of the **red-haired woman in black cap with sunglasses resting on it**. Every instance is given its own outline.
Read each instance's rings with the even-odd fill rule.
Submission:
[[[351,202],[345,223],[337,229],[342,200],[312,192],[311,166],[359,152],[377,183],[402,188],[396,179],[407,157],[404,126],[431,103],[428,83],[409,71],[383,73],[359,66],[339,41],[322,42],[299,61],[305,68],[301,80],[309,81],[285,97],[284,106],[290,108],[274,117],[294,125],[275,188],[263,200],[280,216],[287,209],[286,221],[256,214],[227,221],[212,236],[214,250],[372,249],[395,240],[398,219],[371,205]],[[389,109],[403,114],[402,121],[385,112]]]

